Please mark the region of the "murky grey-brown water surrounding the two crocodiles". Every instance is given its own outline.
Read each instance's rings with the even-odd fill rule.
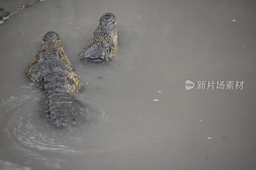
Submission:
[[[255,169],[255,5],[45,0],[12,15],[0,25],[0,168]],[[84,63],[105,12],[116,16],[118,57]],[[43,93],[25,71],[48,31],[94,108],[84,125],[56,129],[39,116]],[[244,89],[187,91],[187,79]]]

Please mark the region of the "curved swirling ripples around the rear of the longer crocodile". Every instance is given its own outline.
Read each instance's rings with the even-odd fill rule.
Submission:
[[[38,160],[44,166],[60,168],[60,164],[68,160],[65,157],[84,153],[79,146],[86,142],[86,135],[94,129],[101,129],[108,116],[102,104],[93,101],[92,107],[96,109],[92,109],[94,112],[88,116],[87,122],[68,128],[55,128],[40,116],[38,100],[43,98],[43,93],[35,89],[33,84],[21,86],[16,89],[19,96],[2,100],[0,123],[4,130],[0,134],[3,134],[1,143],[6,147],[1,149],[0,159],[11,157],[17,163],[24,164]],[[63,160],[56,159],[56,154]]]

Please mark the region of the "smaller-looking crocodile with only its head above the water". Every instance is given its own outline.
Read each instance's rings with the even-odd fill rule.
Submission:
[[[92,40],[83,48],[79,57],[82,60],[104,62],[115,58],[117,49],[116,17],[112,13],[105,13],[100,18]]]

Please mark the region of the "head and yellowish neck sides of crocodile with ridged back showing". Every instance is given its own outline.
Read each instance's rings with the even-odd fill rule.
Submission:
[[[45,82],[42,78],[51,72],[67,76],[67,81],[62,82],[66,92],[77,92],[80,89],[78,74],[73,71],[73,66],[63,50],[59,34],[53,31],[44,35],[43,45],[30,63],[26,74],[37,86],[43,87]]]

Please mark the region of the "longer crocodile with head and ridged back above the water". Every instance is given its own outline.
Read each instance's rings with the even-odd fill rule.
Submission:
[[[79,76],[63,50],[58,33],[50,31],[44,35],[43,45],[26,75],[46,93],[42,111],[48,122],[66,127],[86,120],[88,108],[77,99],[81,88]]]

